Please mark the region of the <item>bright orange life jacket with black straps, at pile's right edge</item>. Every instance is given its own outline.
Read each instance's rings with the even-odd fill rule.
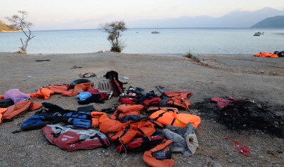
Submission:
[[[159,110],[154,112],[149,117],[151,120],[160,122],[165,125],[173,125],[178,127],[185,127],[189,122],[197,128],[201,119],[197,115],[192,114],[177,114],[172,111]]]

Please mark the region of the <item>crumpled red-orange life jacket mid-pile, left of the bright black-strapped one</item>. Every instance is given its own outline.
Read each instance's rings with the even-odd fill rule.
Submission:
[[[111,114],[110,119],[119,120],[125,115],[140,115],[140,112],[144,109],[141,104],[121,104],[117,107],[116,111]]]

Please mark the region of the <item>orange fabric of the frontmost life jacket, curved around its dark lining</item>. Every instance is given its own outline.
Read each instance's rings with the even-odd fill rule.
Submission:
[[[160,167],[160,166],[165,166],[165,167],[171,167],[175,163],[173,159],[164,159],[164,160],[158,160],[152,156],[152,153],[155,153],[156,151],[169,151],[168,145],[171,144],[173,141],[171,140],[165,140],[163,143],[158,144],[155,146],[153,149],[149,151],[145,151],[143,155],[143,161],[148,165],[148,166],[153,166],[153,167]]]

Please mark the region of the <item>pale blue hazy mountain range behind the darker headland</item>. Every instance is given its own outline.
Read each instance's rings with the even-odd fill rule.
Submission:
[[[253,12],[232,11],[219,18],[181,16],[180,18],[130,21],[126,25],[129,28],[250,28],[263,19],[274,16],[284,16],[284,11],[266,7]]]

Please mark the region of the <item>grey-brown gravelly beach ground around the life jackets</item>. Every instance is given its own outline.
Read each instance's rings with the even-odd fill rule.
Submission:
[[[284,58],[256,58],[253,55],[148,55],[125,53],[81,53],[21,55],[0,53],[0,95],[11,89],[24,93],[36,92],[45,85],[70,84],[82,72],[105,75],[119,73],[124,87],[142,87],[146,91],[163,85],[168,90],[193,93],[193,105],[211,97],[238,97],[263,102],[284,119]],[[36,61],[41,60],[41,61]],[[44,61],[45,60],[45,61]],[[81,68],[72,68],[74,66]],[[123,77],[129,77],[124,80]],[[97,82],[101,77],[90,77]],[[52,95],[50,102],[64,109],[82,107],[75,97]],[[118,97],[104,104],[93,104],[97,110],[115,107]],[[11,134],[35,112],[28,112],[0,126],[0,166],[146,166],[143,153],[116,153],[109,148],[64,151],[48,143],[40,130]],[[187,113],[200,114],[198,109]],[[202,119],[202,117],[201,117]],[[212,119],[202,119],[196,131],[200,147],[190,158],[173,153],[175,166],[284,166],[284,139],[266,133],[226,129]],[[223,140],[230,137],[249,146],[247,157],[234,149],[234,143]]]

